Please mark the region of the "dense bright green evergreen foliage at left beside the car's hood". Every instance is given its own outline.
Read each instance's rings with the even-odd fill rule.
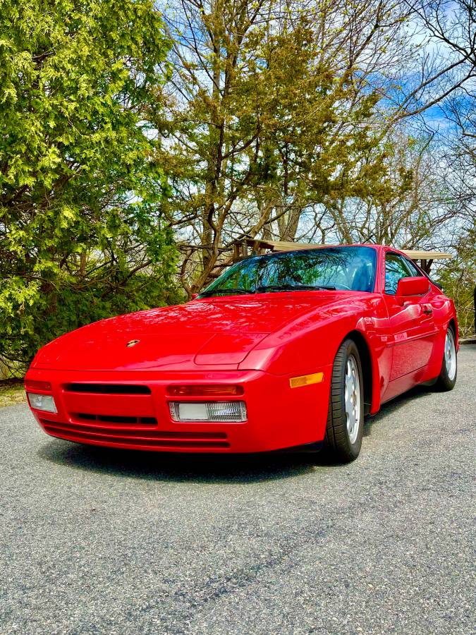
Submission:
[[[175,296],[159,213],[152,0],[3,0],[0,358],[23,370],[57,335]]]

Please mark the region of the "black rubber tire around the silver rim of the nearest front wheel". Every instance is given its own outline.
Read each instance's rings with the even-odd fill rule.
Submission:
[[[346,416],[346,370],[348,360],[353,358],[358,370],[358,387],[360,390],[360,417],[358,431],[354,440],[351,440]],[[350,362],[352,364],[352,362]],[[333,460],[348,463],[357,459],[364,430],[364,390],[362,364],[358,348],[353,339],[346,339],[339,347],[331,377],[331,392],[329,396],[329,412],[327,414],[326,435],[324,437],[324,452]],[[355,436],[355,431],[354,435]]]

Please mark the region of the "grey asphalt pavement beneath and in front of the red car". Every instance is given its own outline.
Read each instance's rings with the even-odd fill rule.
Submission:
[[[476,346],[458,362],[341,466],[83,447],[0,409],[0,633],[476,633]]]

